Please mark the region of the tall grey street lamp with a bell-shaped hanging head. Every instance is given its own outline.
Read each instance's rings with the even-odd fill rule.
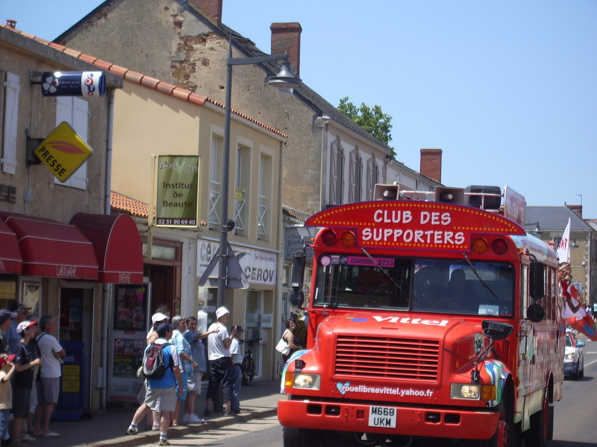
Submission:
[[[276,87],[278,96],[280,98],[289,98],[295,87],[300,87],[302,82],[296,78],[290,70],[290,63],[288,62],[288,53],[284,55],[262,56],[260,58],[233,58],[232,57],[232,40],[228,40],[228,58],[226,59],[226,102],[224,106],[224,173],[222,175],[222,189],[221,189],[221,211],[220,211],[220,245],[219,245],[219,260],[218,260],[218,307],[224,306],[226,299],[226,266],[228,265],[228,256],[234,256],[228,253],[228,231],[234,228],[234,221],[228,220],[228,182],[230,177],[230,103],[232,102],[232,67],[234,65],[251,65],[262,64],[263,62],[274,62],[276,60],[285,59],[286,62],[282,64],[282,69],[278,76],[271,76],[265,78],[265,82]]]

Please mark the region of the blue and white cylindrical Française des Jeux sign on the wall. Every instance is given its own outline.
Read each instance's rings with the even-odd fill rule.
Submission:
[[[42,96],[103,96],[103,71],[54,71],[42,73]]]

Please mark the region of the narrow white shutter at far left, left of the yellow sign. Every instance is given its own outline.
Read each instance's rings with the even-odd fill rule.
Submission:
[[[2,170],[17,173],[17,125],[19,121],[19,76],[6,73],[6,103],[4,107],[4,150]]]

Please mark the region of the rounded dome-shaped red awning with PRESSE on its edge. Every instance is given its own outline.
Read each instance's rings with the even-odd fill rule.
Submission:
[[[137,225],[126,214],[107,216],[76,213],[74,225],[93,244],[98,281],[114,284],[143,282],[143,252]]]

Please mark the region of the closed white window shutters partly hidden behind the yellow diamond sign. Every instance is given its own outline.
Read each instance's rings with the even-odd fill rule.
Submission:
[[[56,97],[56,126],[66,121],[76,134],[87,143],[89,124],[89,103],[74,96]],[[57,178],[54,183],[76,189],[87,189],[87,161],[83,163],[66,182]]]

